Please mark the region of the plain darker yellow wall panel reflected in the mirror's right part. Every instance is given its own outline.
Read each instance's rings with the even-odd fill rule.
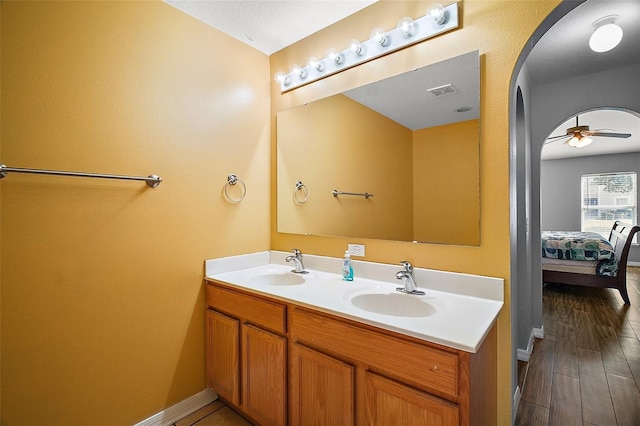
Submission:
[[[414,240],[480,240],[478,120],[413,132]]]

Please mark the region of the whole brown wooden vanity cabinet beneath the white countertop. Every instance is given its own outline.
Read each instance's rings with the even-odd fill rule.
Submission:
[[[497,422],[495,326],[468,353],[214,281],[207,303],[208,384],[259,424]]]

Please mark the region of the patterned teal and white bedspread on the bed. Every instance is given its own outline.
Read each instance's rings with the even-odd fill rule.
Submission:
[[[599,261],[596,275],[615,276],[618,261],[613,247],[595,232],[542,232],[542,257],[561,260]]]

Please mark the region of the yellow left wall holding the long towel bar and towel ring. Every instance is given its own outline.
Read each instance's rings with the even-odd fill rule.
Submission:
[[[266,55],[162,2],[3,1],[2,424],[133,424],[205,388],[205,259],[269,249]],[[230,204],[229,173],[247,184]]]

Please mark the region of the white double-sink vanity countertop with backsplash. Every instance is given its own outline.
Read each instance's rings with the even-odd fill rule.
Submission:
[[[267,274],[292,274],[286,252],[260,252],[206,261],[206,278],[261,295],[315,308],[343,318],[413,336],[466,352],[476,352],[503,305],[504,282],[499,278],[414,268],[414,278],[424,296],[396,291],[400,265],[353,261],[354,281],[343,281],[341,259],[304,255],[309,274],[300,285],[272,285],[256,279]],[[335,271],[335,272],[327,272]],[[395,302],[419,298],[435,313],[424,317],[383,315],[351,303],[359,294],[388,294]],[[412,303],[412,302],[408,302]]]

